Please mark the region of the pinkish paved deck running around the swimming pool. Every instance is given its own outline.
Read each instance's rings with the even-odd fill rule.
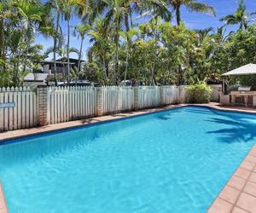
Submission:
[[[96,118],[87,118],[78,121],[72,121],[61,124],[50,124],[43,127],[31,128],[26,130],[14,130],[0,133],[0,143],[4,140],[11,140],[27,135],[37,135],[38,133],[63,130],[72,127],[79,127],[88,124],[96,124],[104,121],[110,121],[119,118],[129,118],[132,116],[143,115],[152,112],[160,112],[167,109],[185,107],[185,106],[203,106],[212,107],[218,110],[229,112],[249,112],[255,113],[256,109],[245,107],[222,107],[218,103],[208,103],[202,105],[172,105],[153,109],[145,109],[137,112],[123,112],[114,115],[107,115]],[[7,213],[7,205],[3,195],[3,189],[0,182],[0,213]],[[247,154],[247,157],[240,164],[234,175],[227,182],[218,197],[212,202],[208,213],[256,213],[256,144]]]

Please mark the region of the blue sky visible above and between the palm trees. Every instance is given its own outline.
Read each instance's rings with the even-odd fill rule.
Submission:
[[[182,20],[185,25],[189,29],[204,29],[207,27],[217,28],[219,26],[223,26],[224,23],[220,22],[219,19],[224,17],[227,14],[234,14],[237,9],[238,0],[200,0],[200,2],[210,4],[214,7],[217,12],[216,17],[212,17],[208,14],[196,14],[189,13],[187,9],[184,7],[181,10]],[[247,12],[255,12],[256,11],[256,0],[245,0],[247,5]],[[135,20],[135,23],[141,23],[143,20]],[[175,24],[175,16],[173,17],[173,24]],[[73,17],[71,21],[71,26],[76,26],[79,24],[79,20],[76,17]],[[62,32],[64,34],[65,39],[67,40],[67,22],[61,22]],[[234,31],[238,28],[238,26],[229,26],[228,31]],[[72,29],[73,31],[73,29]],[[41,43],[44,46],[44,50],[53,46],[53,40],[50,38],[44,38],[42,36],[37,37],[37,43]],[[70,47],[79,49],[80,40],[77,37],[73,36],[71,33],[70,38]],[[87,50],[90,48],[89,37],[87,37],[84,41],[84,49],[83,49],[83,59],[86,59]],[[77,55],[71,55],[73,58],[78,58]],[[49,55],[49,59],[52,59],[52,55]]]

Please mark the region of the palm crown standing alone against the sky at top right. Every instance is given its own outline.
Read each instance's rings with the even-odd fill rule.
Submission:
[[[248,18],[255,14],[248,14],[246,10],[247,6],[244,0],[240,0],[235,14],[228,14],[221,18],[220,21],[224,21],[227,25],[239,25],[240,30],[246,29],[248,26]]]

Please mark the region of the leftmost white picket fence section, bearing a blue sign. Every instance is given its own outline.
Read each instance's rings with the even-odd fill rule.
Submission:
[[[0,132],[38,124],[38,98],[30,88],[0,88]]]

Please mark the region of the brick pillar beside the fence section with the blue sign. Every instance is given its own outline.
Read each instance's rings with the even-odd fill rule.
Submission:
[[[47,124],[47,86],[38,85],[38,125]]]

